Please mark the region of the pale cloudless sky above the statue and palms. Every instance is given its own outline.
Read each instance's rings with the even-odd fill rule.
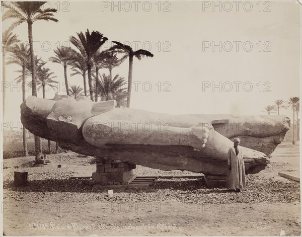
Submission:
[[[137,90],[133,85],[130,106],[160,113],[266,114],[263,107],[273,105],[275,100],[287,101],[289,97],[300,96],[301,5],[297,1],[271,1],[270,6],[252,1],[249,12],[247,5],[246,10],[239,5],[236,11],[235,3],[229,12],[226,10],[230,6],[212,11],[213,6],[207,7],[205,2],[149,3],[151,5],[138,1],[135,6],[133,2],[116,2],[120,9],[111,9],[111,1],[48,2],[52,8],[60,7],[54,14],[58,23],[37,21],[33,24],[33,40],[39,42],[35,54],[47,60],[54,56],[56,46],[64,42],[66,45],[69,36],[87,29],[100,31],[108,42],[128,41],[134,49],[137,44],[136,50],[149,50],[154,57],[134,59],[133,82],[140,84]],[[4,21],[2,30],[11,23]],[[28,41],[26,23],[15,28],[14,33],[21,41]],[[212,49],[219,41],[221,52],[219,47]],[[251,45],[253,48],[249,51]],[[55,80],[60,84],[59,94],[64,94],[63,66],[52,62],[45,66],[54,71]],[[17,65],[7,65],[8,82],[14,82],[19,75],[14,71],[19,69]],[[101,72],[108,74],[107,69]],[[128,60],[113,69],[113,74],[117,73],[127,80]],[[69,68],[67,74],[70,85],[83,87],[82,76],[70,77]],[[28,78],[28,82],[30,80]],[[219,85],[219,82],[221,92],[219,86],[211,87],[212,83]],[[149,85],[152,89],[147,92]],[[250,85],[253,88],[248,92]],[[19,90],[7,90],[4,121],[20,121],[22,91]],[[54,94],[55,91],[49,91],[46,97],[53,98]],[[28,92],[27,96],[30,95]],[[42,91],[38,97],[42,97]],[[281,109],[281,114],[292,119],[290,109]]]

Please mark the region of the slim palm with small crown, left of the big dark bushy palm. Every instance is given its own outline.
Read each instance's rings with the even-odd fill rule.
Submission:
[[[59,63],[64,67],[64,78],[65,78],[65,88],[67,96],[69,96],[69,89],[68,89],[68,81],[67,81],[67,66],[71,63],[71,48],[70,47],[57,47],[53,50],[55,53],[55,57],[50,57],[49,60],[52,62]]]

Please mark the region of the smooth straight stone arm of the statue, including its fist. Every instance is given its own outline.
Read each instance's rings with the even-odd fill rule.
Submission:
[[[84,123],[83,135],[90,144],[99,147],[106,144],[186,145],[201,149],[207,142],[209,128],[203,123],[181,128],[134,121],[133,117],[132,121],[112,119],[108,115],[110,113],[100,114]]]

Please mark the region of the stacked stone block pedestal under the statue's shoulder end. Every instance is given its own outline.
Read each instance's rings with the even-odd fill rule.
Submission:
[[[134,180],[135,164],[120,161],[97,162],[97,171],[92,173],[90,185],[127,185]]]

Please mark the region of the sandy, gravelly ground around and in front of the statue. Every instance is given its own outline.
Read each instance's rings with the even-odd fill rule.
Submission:
[[[5,189],[2,211],[6,235],[300,235],[301,233],[300,199],[296,197],[299,185],[278,176],[278,172],[299,174],[298,145],[281,143],[272,154],[271,165],[249,178],[257,179],[260,187],[250,185],[248,196],[257,193],[259,200],[263,194],[259,191],[261,182],[262,180],[266,182],[266,190],[263,190],[264,196],[260,202],[257,201],[257,195],[255,198],[247,199],[244,193],[232,194],[222,189],[206,189],[201,180],[158,181],[159,186],[145,191],[114,190],[117,197],[110,199],[107,197],[107,190],[90,189],[84,181],[78,181],[75,187],[74,183],[68,183],[66,180],[66,177],[72,175],[91,174],[95,171],[95,165],[89,165],[93,162],[92,157],[78,157],[73,152],[48,157],[51,160],[50,165],[43,168],[24,168],[29,172],[31,184],[22,188],[12,186],[13,171],[21,169],[22,164],[33,160],[33,157],[4,161],[10,167],[3,170]],[[60,170],[57,164],[62,164]],[[190,172],[165,172],[139,167],[138,173],[161,175]],[[42,180],[48,175],[52,176]],[[51,183],[53,179],[58,182]],[[194,187],[184,189],[182,185],[178,186],[182,182],[185,186],[195,185],[196,190]],[[274,184],[271,190],[267,182]],[[293,194],[283,193],[286,198],[292,199],[288,199],[288,202],[280,199],[283,194],[275,187],[276,184],[282,186],[281,192],[294,189]],[[67,189],[68,185],[72,189],[65,193],[60,191]],[[279,195],[277,201],[265,201],[266,193]],[[273,198],[267,196],[267,200]]]

